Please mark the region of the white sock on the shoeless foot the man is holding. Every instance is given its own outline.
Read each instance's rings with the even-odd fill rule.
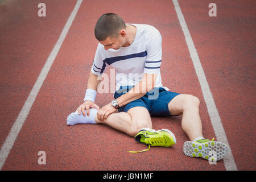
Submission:
[[[96,124],[95,117],[98,113],[98,110],[95,108],[91,108],[89,110],[89,116],[86,114],[85,110],[85,117],[82,113],[79,115],[78,111],[75,113],[69,114],[67,118],[67,125],[76,125],[76,124]]]

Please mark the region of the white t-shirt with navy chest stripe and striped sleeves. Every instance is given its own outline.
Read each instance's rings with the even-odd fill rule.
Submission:
[[[155,87],[163,87],[160,66],[162,63],[162,36],[153,26],[147,24],[131,24],[137,27],[133,43],[118,50],[105,50],[98,44],[94,57],[92,72],[99,76],[110,65],[115,69],[115,89],[120,86],[133,86],[142,80],[143,73],[155,74]],[[168,88],[165,88],[168,90]]]

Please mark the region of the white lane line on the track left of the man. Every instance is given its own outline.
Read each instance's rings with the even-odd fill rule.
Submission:
[[[60,47],[68,34],[69,28],[71,27],[71,24],[73,20],[76,17],[77,11],[79,10],[79,7],[82,3],[82,0],[78,0],[76,3],[75,8],[73,9],[71,15],[69,16],[67,23],[65,24],[63,31],[60,34],[59,39],[57,40],[54,48],[52,49],[50,55],[47,58],[46,64],[44,64],[44,67],[42,71],[40,72],[40,75],[38,76],[38,79],[35,82],[35,85],[33,86],[25,104],[22,107],[22,110],[20,111],[18,118],[16,118],[16,121],[13,124],[13,127],[11,127],[11,131],[8,135],[8,137],[5,140],[5,143],[3,143],[3,146],[0,150],[0,170],[3,167],[3,164],[5,164],[5,160],[7,156],[9,155],[9,152],[11,148],[13,147],[13,144],[19,134],[20,129],[22,128],[22,125],[24,121],[27,118],[28,113],[30,113],[30,109],[32,105],[34,104],[35,98],[38,95],[38,92],[43,85],[44,80],[46,79],[46,76],[49,72],[49,69],[52,66],[53,61],[55,60],[55,57],[57,56],[57,53],[60,50]]]

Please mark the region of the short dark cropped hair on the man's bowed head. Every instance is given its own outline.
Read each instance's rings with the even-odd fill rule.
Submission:
[[[117,38],[119,31],[126,28],[123,19],[114,13],[106,13],[101,15],[94,27],[94,35],[98,41],[103,41],[108,38]]]

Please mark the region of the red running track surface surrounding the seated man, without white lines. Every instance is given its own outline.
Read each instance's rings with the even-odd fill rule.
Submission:
[[[220,114],[238,170],[255,170],[255,2],[180,0],[180,8]],[[44,1],[47,16],[37,15],[40,1],[8,0],[0,6],[0,144],[5,142],[76,1]],[[67,126],[66,118],[84,98],[97,40],[98,17],[113,12],[127,23],[151,24],[163,37],[163,85],[201,101],[205,138],[215,137],[207,106],[172,1],[83,1],[44,80],[2,170],[225,170],[224,161],[188,158],[181,117],[152,118],[154,129],[170,129],[171,148],[146,148],[106,125]],[[107,70],[109,73],[109,69]],[[108,104],[113,94],[98,94]],[[46,165],[38,152],[46,151]]]

